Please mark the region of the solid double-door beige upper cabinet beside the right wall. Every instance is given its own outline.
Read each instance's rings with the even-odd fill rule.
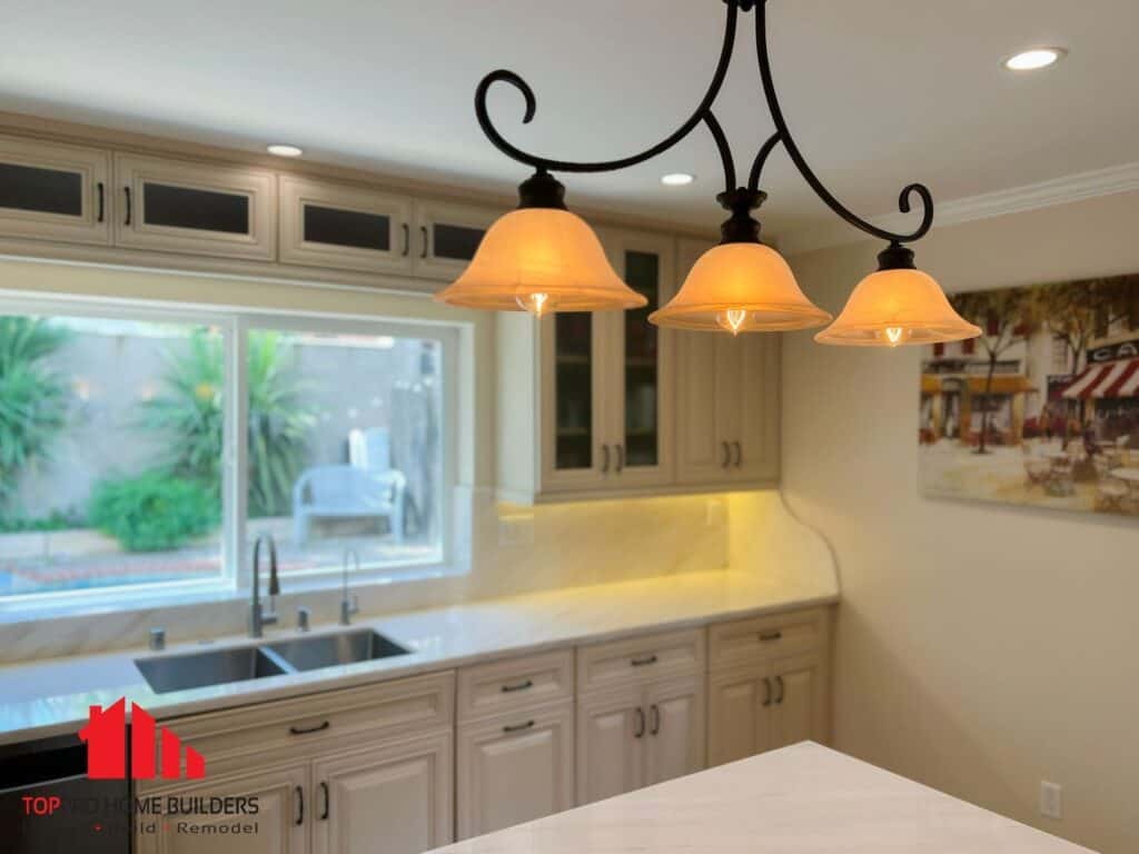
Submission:
[[[712,244],[681,240],[682,279]],[[726,487],[779,478],[780,336],[677,331],[677,479]]]

